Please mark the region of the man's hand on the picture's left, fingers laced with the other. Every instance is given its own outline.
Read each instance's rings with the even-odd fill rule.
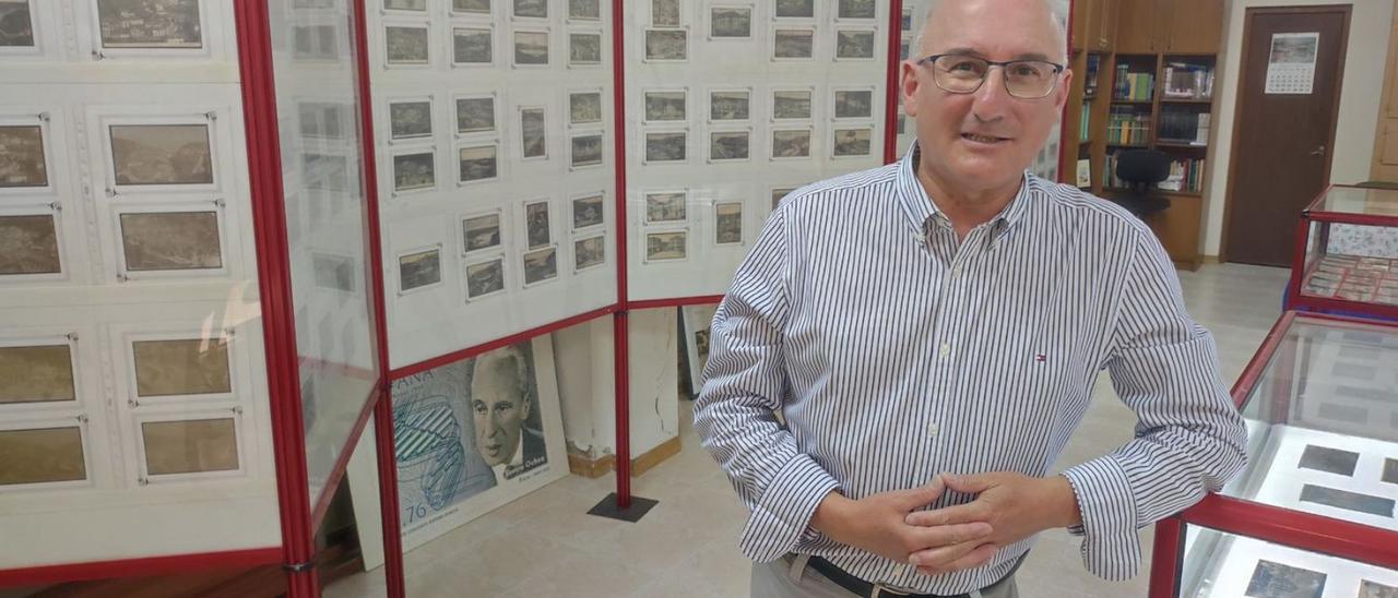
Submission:
[[[836,542],[899,563],[907,563],[909,555],[914,552],[935,549],[913,563],[924,573],[969,569],[988,562],[997,549],[986,544],[993,532],[988,523],[931,527],[907,524],[909,513],[931,504],[945,488],[942,478],[937,476],[924,486],[870,495],[858,500],[832,490],[815,507],[811,525]]]

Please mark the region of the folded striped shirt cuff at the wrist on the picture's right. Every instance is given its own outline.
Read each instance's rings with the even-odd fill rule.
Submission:
[[[1137,535],[1135,495],[1125,469],[1111,455],[1100,457],[1062,472],[1072,485],[1082,511],[1082,564],[1104,580],[1135,577],[1141,567],[1141,538]]]

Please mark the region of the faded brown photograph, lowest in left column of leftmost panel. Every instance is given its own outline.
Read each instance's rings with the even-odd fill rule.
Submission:
[[[0,468],[0,488],[87,479],[78,426],[3,430],[0,455],[6,462]]]

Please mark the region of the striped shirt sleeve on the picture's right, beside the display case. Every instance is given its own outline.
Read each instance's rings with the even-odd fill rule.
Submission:
[[[1218,492],[1247,461],[1247,432],[1219,377],[1213,337],[1184,310],[1153,236],[1138,236],[1107,359],[1139,422],[1114,453],[1068,468],[1082,511],[1082,559],[1107,580],[1137,574],[1138,530]]]

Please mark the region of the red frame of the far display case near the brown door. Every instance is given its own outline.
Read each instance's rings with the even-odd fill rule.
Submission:
[[[1331,224],[1392,228],[1395,233],[1398,233],[1398,217],[1324,210],[1323,204],[1325,197],[1328,197],[1335,189],[1363,189],[1364,191],[1385,191],[1398,194],[1395,190],[1367,189],[1353,184],[1329,184],[1318,196],[1316,196],[1316,198],[1311,200],[1304,210],[1302,210],[1300,219],[1296,224],[1296,247],[1292,257],[1292,275],[1286,282],[1286,306],[1309,312],[1360,314],[1398,320],[1398,305],[1321,298],[1302,293],[1302,285],[1311,277],[1311,274],[1316,272],[1316,267],[1320,261],[1317,260],[1314,264],[1309,264],[1306,261],[1307,246],[1311,239],[1311,226],[1320,226],[1320,231],[1316,233],[1316,239],[1321,247],[1329,245]],[[1398,258],[1394,261],[1398,263]]]

